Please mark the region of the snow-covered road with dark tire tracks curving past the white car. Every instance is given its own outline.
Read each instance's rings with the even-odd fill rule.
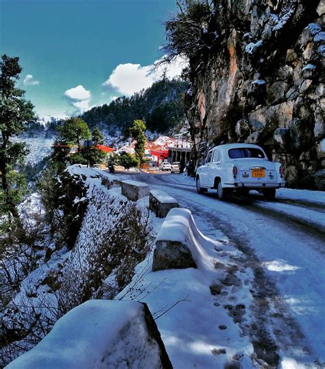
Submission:
[[[133,174],[178,199],[200,230],[228,238],[244,251],[254,271],[256,322],[267,326],[282,358],[325,361],[325,193],[283,189],[275,201],[259,194],[219,201],[213,191],[197,194],[182,175]],[[219,232],[221,230],[221,232]],[[317,365],[318,364],[318,365]],[[296,366],[294,366],[296,367]]]

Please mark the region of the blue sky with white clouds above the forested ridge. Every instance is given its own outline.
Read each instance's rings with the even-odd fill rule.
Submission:
[[[19,56],[36,113],[69,115],[159,78],[176,0],[0,0],[1,54]],[[179,73],[179,65],[169,75]]]

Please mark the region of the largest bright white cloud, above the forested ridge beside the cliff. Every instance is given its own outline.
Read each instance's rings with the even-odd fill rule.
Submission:
[[[165,70],[168,78],[180,76],[182,69],[186,67],[186,60],[178,58],[168,65],[159,65],[156,60],[152,65],[120,64],[110,74],[108,80],[102,84],[104,87],[112,87],[123,95],[132,95],[142,89],[147,89],[156,80],[159,80]]]

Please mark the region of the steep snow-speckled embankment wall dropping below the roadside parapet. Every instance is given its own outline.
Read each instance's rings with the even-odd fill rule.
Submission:
[[[106,290],[111,291],[109,296],[113,298],[149,252],[150,218],[147,209],[128,201],[120,194],[120,188],[94,186],[88,198],[86,214],[63,274],[67,276],[69,291],[77,299],[83,294],[97,298]],[[105,283],[111,273],[121,274],[117,289],[114,283]]]

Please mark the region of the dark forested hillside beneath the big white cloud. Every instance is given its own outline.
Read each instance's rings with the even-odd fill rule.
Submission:
[[[147,128],[150,131],[167,133],[169,128],[173,128],[169,122],[184,122],[184,92],[188,83],[184,80],[168,80],[163,78],[155,82],[152,87],[134,93],[127,98],[125,96],[117,98],[110,104],[104,104],[101,107],[95,107],[82,114],[81,118],[85,120],[90,127],[101,126],[111,134],[116,133],[116,128],[122,130],[132,126],[134,120],[145,120]],[[165,117],[160,116],[158,121],[151,119],[154,109],[173,102],[169,109],[165,109]],[[174,117],[174,119],[173,119]],[[157,117],[156,117],[157,118]]]

